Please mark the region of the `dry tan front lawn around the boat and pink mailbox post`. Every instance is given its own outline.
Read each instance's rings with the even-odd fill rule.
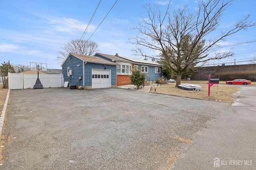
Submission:
[[[202,82],[202,83],[201,83]],[[204,83],[205,82],[205,83]],[[188,91],[175,87],[176,83],[167,83],[161,86],[156,87],[156,93],[164,93],[170,95],[186,96],[186,97],[195,97],[203,99],[218,100],[222,102],[234,102],[236,97],[236,92],[240,87],[236,85],[212,85],[210,97],[208,96],[208,84],[207,81],[189,81],[186,83],[198,84],[202,87],[201,91]],[[185,82],[182,82],[185,83]],[[155,89],[152,89],[151,92],[154,92]]]

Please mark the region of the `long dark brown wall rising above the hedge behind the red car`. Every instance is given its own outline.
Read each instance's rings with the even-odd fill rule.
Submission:
[[[224,66],[212,66],[202,67],[198,69],[198,72],[191,76],[191,80],[208,80],[208,75],[211,75],[212,79],[218,79],[215,77],[215,73],[222,73],[228,71],[256,71],[256,64],[243,64],[243,65],[224,65]]]

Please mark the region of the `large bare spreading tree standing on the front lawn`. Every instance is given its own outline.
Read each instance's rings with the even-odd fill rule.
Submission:
[[[218,32],[220,18],[232,2],[233,0],[198,0],[198,11],[190,13],[188,6],[185,6],[174,9],[170,14],[170,0],[163,15],[159,6],[152,8],[146,5],[148,18],[142,18],[140,25],[133,28],[138,31],[137,36],[129,38],[130,43],[136,44],[135,55],[145,56],[145,48],[159,52],[158,57],[162,56],[164,62],[177,73],[176,86],[180,84],[182,72],[187,67],[234,55],[231,49],[221,52],[214,51],[213,47],[218,46],[220,41],[225,41],[226,37],[255,26],[255,22],[248,21],[250,15],[247,15],[230,29]],[[211,33],[217,33],[218,36],[211,38]],[[186,41],[188,45],[183,50]],[[209,55],[210,53],[215,55]]]

